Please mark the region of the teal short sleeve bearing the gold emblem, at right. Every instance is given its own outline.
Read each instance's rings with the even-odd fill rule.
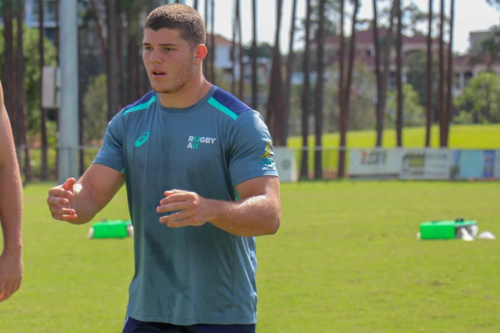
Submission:
[[[233,186],[259,176],[277,176],[271,137],[260,113],[238,115],[231,133],[229,174]]]

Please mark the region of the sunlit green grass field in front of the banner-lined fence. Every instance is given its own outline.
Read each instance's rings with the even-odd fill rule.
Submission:
[[[24,191],[24,279],[0,332],[121,332],[132,240],[53,221],[53,184]],[[282,225],[257,239],[259,333],[498,332],[500,243],[419,241],[461,216],[500,237],[498,182],[283,183]],[[99,213],[127,219],[124,189]]]

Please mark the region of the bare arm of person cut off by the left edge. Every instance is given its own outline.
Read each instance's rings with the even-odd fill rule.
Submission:
[[[0,224],[3,234],[3,252],[0,254],[0,302],[8,299],[21,286],[21,221],[21,177],[0,82]]]

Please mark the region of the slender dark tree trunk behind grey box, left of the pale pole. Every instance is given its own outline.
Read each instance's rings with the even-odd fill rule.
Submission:
[[[38,0],[38,53],[40,55],[40,133],[41,133],[41,180],[47,180],[47,127],[45,124],[47,112],[41,104],[43,95],[43,66],[45,55],[43,49],[43,0]]]

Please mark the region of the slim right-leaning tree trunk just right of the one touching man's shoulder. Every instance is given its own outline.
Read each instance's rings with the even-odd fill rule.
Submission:
[[[283,133],[281,143],[286,146],[288,138],[288,118],[290,117],[290,96],[291,96],[291,74],[293,74],[293,64],[295,62],[295,52],[293,52],[293,39],[295,37],[295,15],[297,11],[297,0],[293,0],[291,6],[290,34],[288,39],[288,57],[286,59],[286,78],[284,83],[284,105],[283,105]]]

